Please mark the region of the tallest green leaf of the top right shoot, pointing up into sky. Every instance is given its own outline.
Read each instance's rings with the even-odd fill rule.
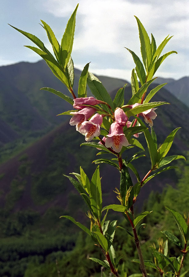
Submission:
[[[140,50],[142,54],[142,59],[144,62],[144,66],[146,68],[146,71],[148,72],[149,67],[152,62],[152,48],[150,39],[148,37],[148,34],[146,30],[144,29],[144,26],[140,22],[140,20],[135,16],[139,28],[139,37],[140,37]]]

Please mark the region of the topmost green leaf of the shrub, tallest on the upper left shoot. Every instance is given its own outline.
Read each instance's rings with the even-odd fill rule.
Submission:
[[[73,37],[74,37],[75,24],[76,24],[76,12],[77,12],[78,5],[79,4],[77,4],[73,14],[71,15],[67,23],[65,32],[61,40],[61,62],[64,70],[69,62],[69,58],[72,52]]]

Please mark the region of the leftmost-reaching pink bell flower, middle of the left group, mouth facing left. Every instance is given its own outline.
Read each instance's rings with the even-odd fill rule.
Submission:
[[[95,111],[92,107],[85,107],[77,112],[71,112],[70,114],[73,114],[73,117],[70,119],[69,124],[72,126],[76,125],[76,130],[79,131],[81,123],[89,119]]]

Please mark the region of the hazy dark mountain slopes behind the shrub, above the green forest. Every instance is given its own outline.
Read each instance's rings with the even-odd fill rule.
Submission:
[[[75,69],[74,91],[78,89],[80,74],[81,71]],[[44,61],[2,66],[0,75],[1,161],[21,151],[0,166],[1,206],[9,207],[14,211],[32,208],[44,212],[53,205],[60,205],[66,209],[69,205],[70,191],[73,188],[70,187],[69,181],[63,179],[62,174],[78,172],[81,163],[91,175],[95,170],[95,165],[91,162],[95,159],[96,150],[79,147],[84,142],[84,137],[69,125],[70,116],[56,117],[56,114],[72,109],[72,106],[40,88],[51,87],[67,95],[69,92],[54,77]],[[130,98],[129,82],[105,76],[98,76],[98,78],[112,98],[120,87],[128,83],[125,94],[128,95],[128,99]],[[189,77],[178,81],[164,78],[156,80],[160,83],[168,82],[167,86],[171,91],[165,89],[165,86],[152,99],[152,101],[171,103],[171,105],[158,107],[158,116],[154,121],[158,142],[163,142],[171,130],[181,126],[182,129],[178,132],[172,149],[174,154],[185,154],[186,150],[189,150],[189,108],[182,102],[187,103]],[[152,83],[150,89],[155,86],[156,84]],[[176,93],[178,90],[179,93]],[[54,129],[55,127],[57,129]],[[36,139],[38,140],[33,143]],[[145,145],[144,138],[141,136],[140,139]],[[23,150],[23,147],[31,143],[33,144]],[[86,151],[88,151],[87,157]],[[140,171],[145,172],[148,167],[148,164],[143,163]],[[107,194],[110,183],[113,190],[115,184],[119,182],[116,170],[102,166],[100,172],[105,180],[103,192]],[[170,171],[164,177],[153,180],[153,183],[149,182],[148,187],[144,188],[141,203],[155,185],[157,190],[161,190],[166,183],[174,185],[176,176],[174,171]],[[108,201],[112,198],[115,198],[114,194],[108,195]]]

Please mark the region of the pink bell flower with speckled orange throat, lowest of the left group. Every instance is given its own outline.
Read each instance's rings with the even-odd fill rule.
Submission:
[[[79,132],[85,135],[86,141],[91,141],[94,137],[100,136],[100,125],[102,124],[102,115],[94,114],[89,121],[81,123]]]

